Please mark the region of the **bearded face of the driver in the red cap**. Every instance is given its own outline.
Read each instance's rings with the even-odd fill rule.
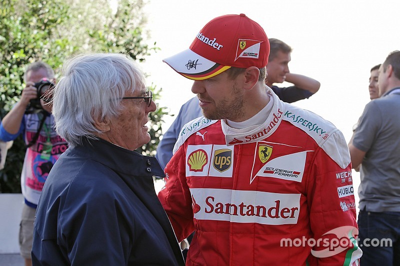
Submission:
[[[243,112],[243,91],[236,79],[222,72],[214,77],[193,82],[191,91],[197,94],[203,115],[212,120],[240,121]]]

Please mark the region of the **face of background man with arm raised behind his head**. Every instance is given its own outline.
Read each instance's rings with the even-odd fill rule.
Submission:
[[[266,84],[269,86],[273,83],[282,83],[286,79],[286,74],[289,73],[288,63],[290,62],[290,53],[278,51],[275,58],[266,65]]]

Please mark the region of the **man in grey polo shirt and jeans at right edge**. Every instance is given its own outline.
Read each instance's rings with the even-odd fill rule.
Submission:
[[[357,221],[364,252],[360,263],[397,266],[400,265],[400,51],[391,52],[378,72],[379,97],[365,105],[348,148],[352,167],[355,169],[362,163]],[[379,245],[371,245],[372,240],[379,241]],[[382,240],[389,240],[391,245],[383,245]]]

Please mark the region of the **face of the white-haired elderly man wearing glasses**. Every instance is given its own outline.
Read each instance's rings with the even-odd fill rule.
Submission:
[[[145,88],[127,92],[124,97],[145,96]],[[111,142],[128,150],[135,150],[150,141],[148,134],[148,113],[156,109],[151,101],[150,106],[144,99],[121,100],[121,114],[110,121],[109,138]]]

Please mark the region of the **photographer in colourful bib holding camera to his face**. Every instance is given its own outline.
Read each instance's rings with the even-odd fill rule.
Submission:
[[[21,173],[21,190],[24,197],[19,227],[19,246],[25,265],[31,265],[33,220],[37,202],[47,175],[63,153],[67,144],[53,129],[51,88],[54,71],[38,61],[30,64],[24,74],[25,88],[20,100],[0,124],[0,140],[14,140],[23,134],[27,149]]]

